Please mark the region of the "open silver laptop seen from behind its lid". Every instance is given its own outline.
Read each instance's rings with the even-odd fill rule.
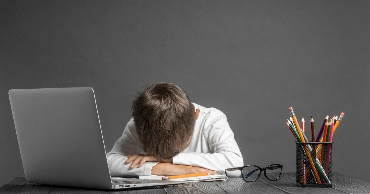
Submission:
[[[29,183],[98,189],[187,183],[111,177],[90,87],[11,89],[9,99]]]

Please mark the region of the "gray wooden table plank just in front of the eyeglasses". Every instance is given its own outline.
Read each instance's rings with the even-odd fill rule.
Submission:
[[[261,180],[247,182],[242,177],[229,177],[227,181],[214,181],[227,193],[284,193]]]

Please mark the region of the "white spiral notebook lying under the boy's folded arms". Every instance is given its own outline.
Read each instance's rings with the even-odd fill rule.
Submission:
[[[162,180],[162,177],[165,175],[151,175],[151,176],[139,176],[140,179],[149,179],[149,180]],[[226,181],[228,177],[221,173],[211,174],[208,176],[199,176],[199,177],[188,177],[188,178],[175,178],[171,181],[188,181],[188,182],[199,182],[199,181]]]

